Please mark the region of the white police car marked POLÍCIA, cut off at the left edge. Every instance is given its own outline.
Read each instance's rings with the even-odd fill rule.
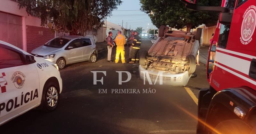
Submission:
[[[61,91],[57,65],[0,40],[0,125],[36,107],[56,109]]]

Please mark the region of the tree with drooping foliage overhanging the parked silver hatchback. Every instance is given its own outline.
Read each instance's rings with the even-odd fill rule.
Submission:
[[[20,8],[41,18],[41,25],[54,24],[54,30],[84,35],[99,28],[121,0],[18,0]],[[49,23],[50,22],[50,23]]]

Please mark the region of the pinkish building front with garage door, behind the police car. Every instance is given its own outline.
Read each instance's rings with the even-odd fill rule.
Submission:
[[[28,15],[12,0],[1,0],[0,40],[17,46],[28,53],[55,37],[53,31],[41,26],[41,19]]]

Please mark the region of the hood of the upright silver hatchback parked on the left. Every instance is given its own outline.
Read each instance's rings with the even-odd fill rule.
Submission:
[[[62,48],[55,48],[55,47],[48,47],[48,46],[39,46],[36,49],[32,50],[32,54],[37,54],[37,55],[49,55],[49,54],[55,54],[59,52]]]

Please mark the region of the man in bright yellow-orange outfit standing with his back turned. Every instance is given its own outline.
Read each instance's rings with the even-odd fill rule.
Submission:
[[[116,41],[116,60],[115,60],[115,62],[118,63],[119,56],[120,56],[120,53],[121,53],[122,63],[125,63],[125,58],[124,58],[125,38],[122,35],[121,31],[118,31],[117,34],[118,35],[116,36],[116,39],[115,39],[115,41]]]

